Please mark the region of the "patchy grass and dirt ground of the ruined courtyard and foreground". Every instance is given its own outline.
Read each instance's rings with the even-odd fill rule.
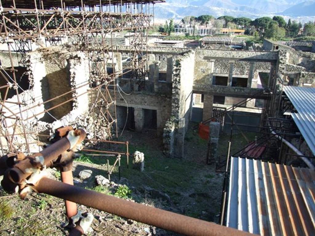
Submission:
[[[121,180],[115,167],[110,186],[100,187],[95,184],[95,176],[107,177],[107,157],[84,156],[74,162],[74,182],[83,188],[89,188],[105,194],[117,194],[117,188],[123,184],[130,190],[129,200],[155,206],[187,216],[218,222],[221,204],[223,175],[215,171],[214,165],[206,165],[207,141],[202,140],[190,128],[185,138],[185,157],[169,159],[163,155],[161,137],[148,131],[136,133],[125,131],[121,140],[130,143],[129,152],[135,150],[145,155],[145,171],[127,168],[126,158],[122,158]],[[225,155],[228,137],[220,138],[219,152]],[[236,137],[242,140],[242,137]],[[244,143],[245,144],[245,143]],[[242,141],[234,149],[241,149]],[[107,146],[99,149],[108,150]],[[111,146],[112,150],[122,150]],[[130,158],[131,159],[131,158]],[[110,159],[110,164],[114,162]],[[92,176],[82,180],[81,170],[92,170]],[[60,173],[51,170],[50,177],[59,179]],[[147,192],[154,189],[158,194]],[[115,195],[117,196],[117,195]],[[124,197],[124,196],[123,196]],[[95,219],[93,231],[88,235],[177,235],[142,223],[124,219],[78,205],[82,212],[91,212]],[[64,222],[65,206],[61,199],[32,193],[25,200],[15,195],[0,191],[0,235],[67,235],[61,227]]]

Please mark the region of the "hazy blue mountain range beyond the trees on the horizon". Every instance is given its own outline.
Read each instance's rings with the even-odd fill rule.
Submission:
[[[297,20],[315,19],[315,0],[166,0],[155,4],[158,19],[181,19],[187,15],[231,15],[252,19],[283,15]]]

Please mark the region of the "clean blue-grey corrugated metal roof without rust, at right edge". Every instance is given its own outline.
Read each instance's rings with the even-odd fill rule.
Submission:
[[[307,145],[315,155],[315,88],[284,86],[298,113],[291,113]]]

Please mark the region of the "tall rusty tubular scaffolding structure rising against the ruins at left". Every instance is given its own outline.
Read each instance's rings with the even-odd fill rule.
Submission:
[[[71,39],[73,45],[79,51],[85,52],[89,58],[89,93],[93,101],[93,92],[98,94],[97,100],[91,109],[91,116],[101,115],[105,119],[103,126],[106,127],[104,140],[118,138],[117,115],[116,115],[116,80],[123,73],[132,75],[131,80],[143,86],[148,73],[147,65],[147,35],[148,29],[152,25],[154,4],[162,3],[164,0],[0,0],[0,38],[1,43],[8,46],[10,59],[8,69],[0,69],[0,75],[4,83],[0,84],[2,89],[0,97],[1,112],[1,136],[5,137],[5,142],[0,139],[2,153],[15,152],[15,136],[23,136],[27,152],[30,154],[28,135],[29,131],[25,123],[29,119],[36,117],[28,116],[27,111],[32,107],[26,107],[20,98],[21,89],[16,76],[16,64],[14,64],[14,53],[17,53],[19,65],[26,65],[26,54],[31,51],[32,44],[39,47],[53,46],[61,44],[62,39]],[[129,57],[130,66],[124,71],[115,71],[113,33],[129,32]],[[132,39],[131,39],[132,37]],[[112,72],[107,71],[107,65],[112,65]],[[110,93],[109,87],[113,88]],[[9,90],[14,90],[19,111],[10,109],[12,102],[8,101]],[[66,96],[71,91],[60,96]],[[55,105],[43,112],[72,102],[83,94],[72,96],[65,102]],[[58,96],[58,98],[60,98]],[[56,98],[51,98],[41,104],[51,102]],[[4,112],[5,111],[5,112]],[[43,113],[42,112],[42,113]],[[14,123],[7,122],[13,119]],[[21,127],[22,133],[16,132],[16,127]],[[6,148],[7,147],[7,148]]]

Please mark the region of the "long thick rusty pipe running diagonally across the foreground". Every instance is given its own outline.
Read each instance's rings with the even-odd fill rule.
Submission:
[[[151,206],[119,199],[88,189],[42,178],[34,187],[39,193],[70,200],[101,211],[190,236],[253,235]]]

